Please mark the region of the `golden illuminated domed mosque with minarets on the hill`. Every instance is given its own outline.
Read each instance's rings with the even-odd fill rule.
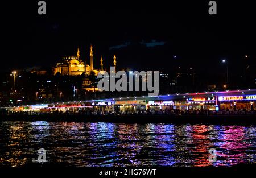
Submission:
[[[116,56],[114,55],[114,66],[116,67],[117,61]],[[92,74],[92,72],[97,76],[98,72],[103,71],[103,59],[101,56],[100,59],[100,69],[93,68],[93,47],[90,46],[90,65],[84,63],[84,61],[80,58],[80,51],[79,48],[77,49],[76,56],[67,56],[63,57],[62,61],[57,63],[53,68],[53,74],[56,75],[57,73],[61,75],[69,75],[69,76],[77,76],[81,74],[85,74],[86,76]]]

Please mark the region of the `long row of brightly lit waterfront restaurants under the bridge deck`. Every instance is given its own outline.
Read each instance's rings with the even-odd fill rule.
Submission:
[[[163,96],[122,97],[104,100],[69,101],[52,104],[2,107],[7,111],[33,112],[138,112],[166,110],[256,110],[256,89],[223,92],[168,94]]]

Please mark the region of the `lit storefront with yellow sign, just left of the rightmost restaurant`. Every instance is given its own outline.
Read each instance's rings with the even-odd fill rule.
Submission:
[[[189,110],[216,110],[217,97],[187,98]]]

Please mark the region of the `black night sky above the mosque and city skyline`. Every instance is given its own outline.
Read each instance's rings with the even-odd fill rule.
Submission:
[[[255,64],[252,2],[216,1],[217,15],[208,14],[209,1],[174,2],[46,1],[47,15],[38,15],[38,1],[2,4],[0,70],[52,67],[77,47],[88,63],[90,43],[98,68],[101,55],[109,67],[114,54],[118,68],[137,70],[181,65],[213,73],[226,59],[235,73],[244,55]]]

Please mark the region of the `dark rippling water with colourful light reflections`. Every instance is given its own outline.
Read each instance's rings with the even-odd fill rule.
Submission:
[[[256,126],[0,122],[0,165],[223,166],[254,163]],[[216,149],[216,162],[209,150]],[[212,157],[213,158],[213,157]]]

